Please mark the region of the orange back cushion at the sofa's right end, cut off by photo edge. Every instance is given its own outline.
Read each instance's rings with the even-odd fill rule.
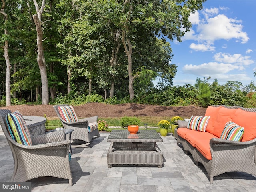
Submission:
[[[250,141],[256,138],[256,113],[238,109],[234,114],[233,122],[244,127],[242,141]]]

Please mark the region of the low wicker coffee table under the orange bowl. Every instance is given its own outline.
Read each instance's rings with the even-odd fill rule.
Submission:
[[[107,142],[111,142],[107,161],[112,165],[158,165],[163,166],[163,153],[156,142],[163,142],[155,130],[139,130],[130,134],[128,130],[112,130]]]

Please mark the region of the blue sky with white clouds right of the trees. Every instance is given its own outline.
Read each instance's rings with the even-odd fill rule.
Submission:
[[[256,82],[256,0],[207,0],[190,15],[182,42],[170,42],[177,74],[174,86],[211,77],[218,84]]]

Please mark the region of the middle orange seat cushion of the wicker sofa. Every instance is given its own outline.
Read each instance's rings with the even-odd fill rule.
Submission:
[[[201,140],[209,140],[211,138],[217,138],[215,135],[208,133],[208,132],[200,132],[192,130],[189,132],[189,134],[186,134],[185,136],[186,140],[193,146],[196,146],[196,143],[200,142]],[[210,145],[208,143],[208,146],[210,148]]]

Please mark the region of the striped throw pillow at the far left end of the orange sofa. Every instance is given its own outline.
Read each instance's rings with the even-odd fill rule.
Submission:
[[[205,132],[206,126],[210,116],[191,116],[190,121],[188,122],[188,128],[196,131]]]

